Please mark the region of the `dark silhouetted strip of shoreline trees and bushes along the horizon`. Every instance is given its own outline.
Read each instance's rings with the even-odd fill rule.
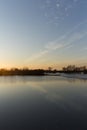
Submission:
[[[67,67],[63,67],[62,70],[52,69],[48,67],[47,70],[45,69],[29,69],[29,68],[12,68],[8,69],[0,69],[0,76],[44,76],[44,75],[55,75],[58,76],[59,74],[87,74],[87,67],[81,66],[76,67],[75,65],[69,65]]]

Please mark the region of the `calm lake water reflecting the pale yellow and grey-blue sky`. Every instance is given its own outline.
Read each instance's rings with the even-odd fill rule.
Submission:
[[[87,80],[0,77],[0,130],[87,130]]]

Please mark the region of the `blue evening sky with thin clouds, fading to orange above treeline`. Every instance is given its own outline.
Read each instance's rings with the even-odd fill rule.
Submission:
[[[87,0],[0,0],[0,68],[87,65]]]

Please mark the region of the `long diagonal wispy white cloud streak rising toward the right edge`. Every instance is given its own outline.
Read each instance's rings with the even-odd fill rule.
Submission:
[[[84,38],[87,35],[87,32],[76,32],[77,29],[83,24],[87,24],[87,20],[84,22],[79,23],[77,26],[75,26],[72,30],[68,31],[66,34],[62,35],[60,38],[51,41],[47,43],[43,50],[40,52],[34,54],[31,56],[31,58],[28,58],[26,62],[31,62],[37,59],[42,58],[43,56],[46,56],[48,53],[55,51],[55,50],[61,50],[61,49],[70,49],[73,47],[74,42]]]

